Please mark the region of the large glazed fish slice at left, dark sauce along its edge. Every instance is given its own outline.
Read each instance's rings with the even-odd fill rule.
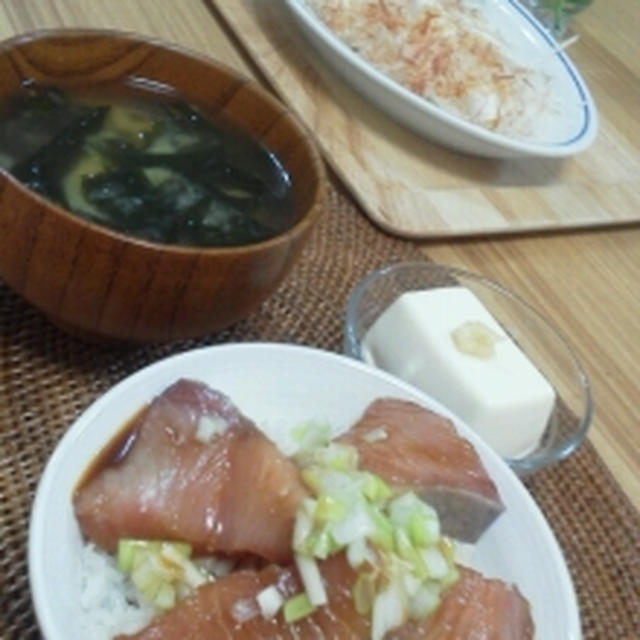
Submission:
[[[305,495],[299,471],[226,396],[181,380],[144,410],[131,440],[121,460],[74,495],[89,540],[108,551],[129,537],[188,542],[196,554],[291,560]]]

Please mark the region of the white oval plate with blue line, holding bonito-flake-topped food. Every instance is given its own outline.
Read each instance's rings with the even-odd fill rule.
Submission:
[[[412,93],[357,55],[306,5],[285,0],[290,14],[331,69],[387,115],[446,147],[496,158],[562,157],[586,149],[598,118],[589,89],[549,32],[517,0],[469,0],[480,7],[518,63],[549,79],[548,105],[537,119],[535,137],[495,133],[453,115]]]

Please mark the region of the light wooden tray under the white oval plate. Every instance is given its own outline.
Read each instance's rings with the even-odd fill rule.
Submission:
[[[384,230],[446,238],[640,221],[640,125],[631,104],[640,108],[640,77],[588,33],[572,59],[599,108],[594,145],[565,160],[489,160],[436,146],[365,102],[314,54],[281,2],[212,2]],[[630,104],[619,104],[618,89]]]

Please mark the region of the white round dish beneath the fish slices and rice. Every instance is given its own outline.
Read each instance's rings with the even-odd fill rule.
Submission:
[[[75,485],[119,427],[180,377],[229,395],[285,449],[292,427],[319,419],[344,431],[380,396],[414,400],[450,416],[476,446],[506,506],[475,546],[472,564],[518,585],[531,603],[536,638],[580,639],[573,586],[549,526],[513,472],[468,427],[413,387],[345,356],[292,345],[234,344],[186,352],[130,376],[91,405],[56,447],[38,486],[29,531],[31,592],[46,640],[88,637],[80,606],[82,539],[71,505]]]

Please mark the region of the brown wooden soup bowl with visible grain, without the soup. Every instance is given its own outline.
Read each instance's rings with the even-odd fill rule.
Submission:
[[[0,97],[25,81],[64,89],[131,76],[171,85],[275,152],[292,179],[294,226],[240,247],[155,244],[87,222],[0,171],[0,278],[55,324],[83,337],[200,336],[246,317],[291,270],[324,208],[324,165],[279,101],[254,81],[176,46],[77,30],[34,32],[0,44]]]

